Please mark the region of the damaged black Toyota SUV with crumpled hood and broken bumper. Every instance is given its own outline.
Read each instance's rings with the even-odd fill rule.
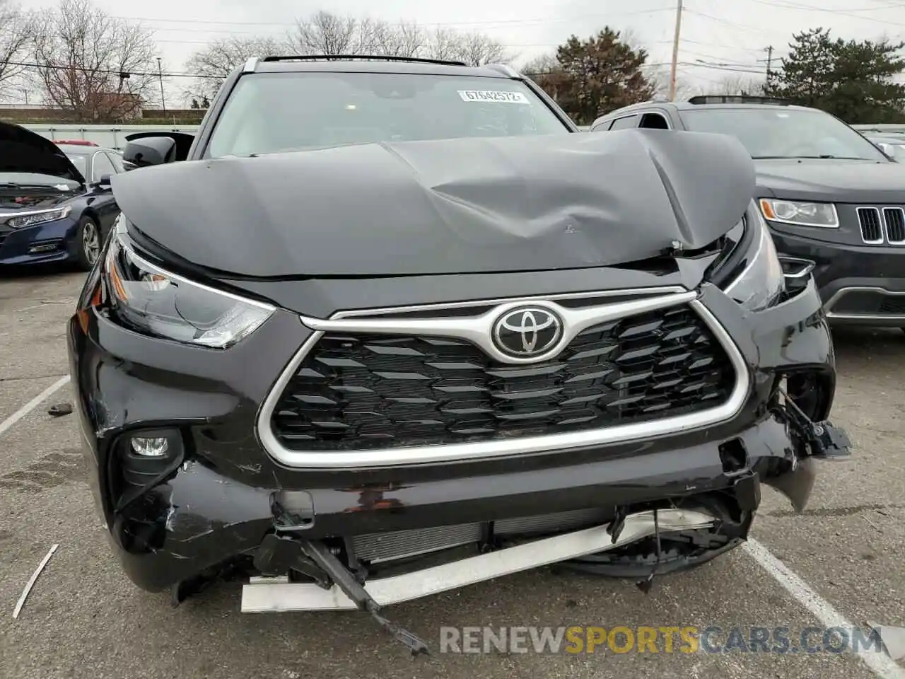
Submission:
[[[805,505],[849,443],[748,152],[575,132],[505,66],[268,57],[195,139],[129,144],[68,344],[139,587],[238,576],[243,611],[360,608],[418,652],[382,607],[646,583],[745,540],[761,483]]]

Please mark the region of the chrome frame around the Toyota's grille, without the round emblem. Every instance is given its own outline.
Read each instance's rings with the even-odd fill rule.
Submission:
[[[591,303],[580,307],[564,306],[569,301],[590,301]],[[513,358],[495,348],[491,337],[491,327],[500,314],[526,303],[543,304],[556,311],[564,320],[562,337],[556,346],[541,356],[529,359]],[[696,413],[667,416],[626,425],[550,435],[514,436],[493,441],[334,451],[291,450],[281,444],[271,426],[271,420],[283,390],[310,350],[327,332],[417,334],[467,339],[482,349],[491,359],[504,364],[524,365],[557,356],[582,330],[607,320],[617,320],[647,311],[668,309],[681,304],[688,305],[704,321],[719,342],[721,349],[725,351],[735,373],[735,384],[729,397],[718,406]],[[486,309],[488,307],[491,307],[490,311],[484,311],[481,315],[460,315],[461,311],[467,311],[469,308]],[[413,317],[414,313],[417,313],[419,317]],[[424,318],[425,314],[428,318]],[[340,311],[329,320],[308,317],[300,317],[300,319],[313,332],[271,387],[271,392],[264,400],[257,417],[257,433],[267,453],[277,462],[296,468],[348,469],[476,460],[512,454],[556,452],[675,434],[689,429],[713,426],[736,416],[745,403],[750,387],[748,366],[729,334],[698,300],[697,292],[690,292],[679,286]]]

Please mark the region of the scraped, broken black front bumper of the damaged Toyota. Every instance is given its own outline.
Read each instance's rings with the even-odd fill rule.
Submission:
[[[742,480],[750,510],[758,497],[752,484],[760,481],[803,506],[813,483],[808,465],[799,464],[804,445],[773,406],[782,378],[810,385],[805,409],[813,419],[824,419],[832,405],[833,347],[814,282],[757,313],[709,285],[700,303],[748,369],[744,402],[727,420],[567,454],[370,469],[290,468],[254,434],[274,379],[310,336],[298,316],[278,312],[251,338],[217,352],[148,339],[82,312],[70,322],[68,342],[91,488],[123,568],[149,590],[252,554],[273,531],[276,498],[306,516],[310,540],[590,508],[613,513],[700,493],[736,494]],[[111,476],[119,439],[161,427],[182,431],[185,457],[117,508]]]

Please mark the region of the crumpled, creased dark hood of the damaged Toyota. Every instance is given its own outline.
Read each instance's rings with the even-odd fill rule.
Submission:
[[[636,262],[712,243],[754,188],[738,140],[668,130],[367,144],[113,177],[131,229],[249,277]]]

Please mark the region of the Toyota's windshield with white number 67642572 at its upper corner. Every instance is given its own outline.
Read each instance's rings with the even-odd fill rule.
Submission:
[[[205,156],[570,130],[523,83],[414,73],[257,73],[236,85]]]

